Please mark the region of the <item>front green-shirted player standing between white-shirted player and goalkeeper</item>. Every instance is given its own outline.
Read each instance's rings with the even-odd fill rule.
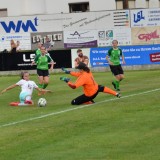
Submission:
[[[37,74],[39,79],[39,88],[45,89],[49,83],[49,64],[50,70],[53,70],[54,61],[46,51],[44,46],[41,47],[41,54],[38,54],[32,64],[37,64]],[[41,95],[39,93],[39,95]]]

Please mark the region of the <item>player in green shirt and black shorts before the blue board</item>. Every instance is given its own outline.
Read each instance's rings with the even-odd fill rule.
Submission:
[[[118,41],[113,40],[112,48],[108,50],[106,59],[109,63],[111,72],[115,76],[115,80],[112,82],[112,85],[117,91],[120,91],[119,83],[124,79],[124,71],[120,64],[120,57],[122,57],[122,64],[126,64],[122,50],[118,47]]]

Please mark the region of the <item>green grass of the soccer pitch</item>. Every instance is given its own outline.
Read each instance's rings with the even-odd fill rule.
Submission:
[[[94,105],[35,120],[80,107],[70,102],[82,93],[81,88],[72,90],[59,80],[62,74],[51,75],[48,89],[53,93],[44,96],[48,102],[44,108],[10,107],[20,88],[0,95],[0,160],[159,160],[160,90],[139,94],[160,88],[159,75],[159,70],[126,71],[121,99],[99,93]],[[110,72],[94,76],[99,84],[112,88]],[[37,82],[35,75],[31,79]],[[18,76],[2,76],[0,89],[18,80]],[[36,91],[33,97],[36,103]]]

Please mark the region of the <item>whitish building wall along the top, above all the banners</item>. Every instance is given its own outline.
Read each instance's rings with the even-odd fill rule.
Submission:
[[[69,3],[81,2],[89,2],[90,11],[123,9],[123,0],[0,0],[0,9],[7,8],[8,16],[69,13]],[[129,0],[129,8],[159,6],[159,0]]]

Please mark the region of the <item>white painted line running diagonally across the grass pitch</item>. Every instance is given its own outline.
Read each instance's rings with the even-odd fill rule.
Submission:
[[[135,94],[131,94],[131,95],[128,95],[128,96],[123,96],[121,98],[112,98],[112,99],[96,102],[96,103],[89,104],[89,105],[76,106],[75,108],[70,108],[70,109],[66,109],[66,110],[63,110],[63,111],[59,111],[59,112],[52,112],[52,113],[49,113],[49,114],[45,114],[45,115],[42,115],[42,116],[25,119],[25,120],[22,120],[22,121],[16,121],[16,122],[2,124],[2,125],[0,125],[0,128],[7,127],[7,126],[13,126],[13,125],[24,123],[24,122],[29,122],[29,121],[33,121],[33,120],[49,117],[49,116],[54,116],[54,115],[66,113],[66,112],[69,112],[69,111],[73,111],[73,110],[77,110],[77,109],[82,109],[82,108],[85,108],[85,107],[90,107],[90,106],[93,106],[93,105],[96,105],[96,104],[101,104],[101,103],[104,103],[104,102],[110,102],[110,101],[115,101],[115,100],[119,100],[119,99],[123,99],[123,98],[129,98],[129,97],[133,97],[133,96],[148,94],[148,93],[156,92],[156,91],[159,91],[159,90],[160,90],[160,88],[149,90],[149,91],[145,91],[145,92],[141,92],[141,93],[135,93]]]

